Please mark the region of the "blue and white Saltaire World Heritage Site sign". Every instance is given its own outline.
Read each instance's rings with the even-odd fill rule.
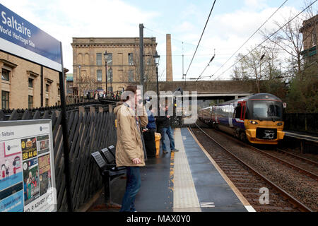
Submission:
[[[0,4],[0,49],[61,71],[61,42]]]

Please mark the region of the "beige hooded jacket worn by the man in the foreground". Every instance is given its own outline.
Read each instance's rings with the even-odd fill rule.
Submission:
[[[141,132],[136,126],[134,111],[123,104],[124,102],[117,102],[117,107],[114,108],[117,119],[116,165],[117,167],[141,167],[145,165]],[[143,107],[143,116],[139,119],[141,126],[146,127],[148,117],[145,107]],[[132,160],[137,157],[141,163],[134,165]]]

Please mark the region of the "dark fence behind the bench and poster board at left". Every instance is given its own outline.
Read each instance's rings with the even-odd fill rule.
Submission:
[[[102,180],[99,179],[98,169],[90,154],[101,148],[114,145],[117,141],[114,126],[115,115],[109,112],[108,107],[110,106],[77,106],[71,107],[67,112],[73,210],[88,202],[103,186]],[[57,209],[58,211],[67,211],[60,111],[58,109],[0,110],[0,121],[28,119],[52,120]]]

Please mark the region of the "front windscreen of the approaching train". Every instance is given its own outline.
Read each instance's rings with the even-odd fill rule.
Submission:
[[[257,120],[283,121],[283,104],[271,100],[254,100],[252,117]]]

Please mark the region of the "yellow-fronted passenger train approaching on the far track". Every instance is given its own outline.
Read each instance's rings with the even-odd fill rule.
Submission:
[[[199,120],[249,143],[276,145],[283,132],[283,102],[258,93],[199,110]]]

